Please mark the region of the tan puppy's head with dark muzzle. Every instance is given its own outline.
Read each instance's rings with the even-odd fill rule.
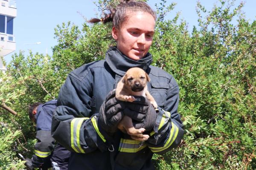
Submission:
[[[124,78],[123,83],[127,85],[131,91],[143,91],[147,82],[150,81],[148,74],[141,68],[130,68]]]

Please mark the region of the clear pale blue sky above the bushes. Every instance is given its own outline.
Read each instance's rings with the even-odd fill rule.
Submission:
[[[20,50],[24,54],[29,54],[29,50],[33,53],[48,53],[52,55],[52,47],[57,44],[54,39],[54,28],[57,24],[72,23],[80,28],[84,23],[81,14],[90,19],[95,17],[97,7],[93,4],[96,0],[16,0],[17,17],[14,20],[14,35],[16,41],[16,53]],[[167,18],[173,18],[175,14],[180,12],[180,19],[189,23],[189,30],[195,25],[197,26],[196,3],[197,0],[166,0],[167,4],[176,2],[175,9],[168,14]],[[236,0],[238,5],[241,0]],[[160,0],[149,0],[148,3],[152,8],[154,4]],[[200,1],[210,11],[218,0],[201,0]],[[256,19],[256,0],[246,0],[243,11],[246,19],[250,23]],[[78,13],[79,11],[79,13]],[[34,44],[41,42],[41,44]],[[6,62],[10,62],[12,54],[5,56]]]

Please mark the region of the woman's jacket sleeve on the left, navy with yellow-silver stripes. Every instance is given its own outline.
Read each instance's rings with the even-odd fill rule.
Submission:
[[[88,79],[93,78],[88,75]],[[91,85],[69,74],[62,85],[52,116],[52,137],[67,150],[89,153],[106,150],[106,139],[97,126],[98,115],[90,117]]]

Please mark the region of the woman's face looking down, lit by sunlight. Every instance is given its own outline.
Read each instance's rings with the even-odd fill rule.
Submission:
[[[132,12],[120,29],[112,28],[119,51],[133,60],[138,60],[148,53],[154,35],[155,20],[151,14]]]

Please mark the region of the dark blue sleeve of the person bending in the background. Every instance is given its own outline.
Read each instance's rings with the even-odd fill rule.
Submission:
[[[35,154],[32,156],[33,167],[42,166],[51,155],[54,148],[55,139],[51,136],[52,117],[47,114],[44,107],[37,111],[37,133],[35,144]]]

